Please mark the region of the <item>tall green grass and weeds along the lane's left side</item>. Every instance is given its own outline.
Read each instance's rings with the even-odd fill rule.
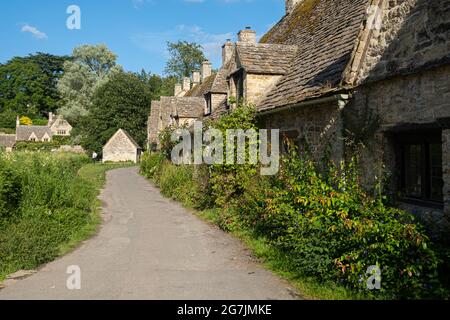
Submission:
[[[0,157],[0,165],[0,282],[94,235],[101,223],[97,197],[106,171],[131,166],[92,164],[73,154],[20,152]]]

